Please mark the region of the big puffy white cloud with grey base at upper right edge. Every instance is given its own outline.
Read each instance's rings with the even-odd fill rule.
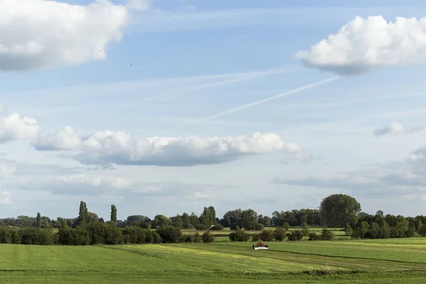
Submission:
[[[336,34],[296,56],[307,67],[354,75],[373,67],[423,62],[426,59],[426,18],[356,16]]]

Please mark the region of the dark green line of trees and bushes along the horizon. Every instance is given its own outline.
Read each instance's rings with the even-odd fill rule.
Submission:
[[[257,214],[253,209],[234,209],[226,212],[222,219],[216,217],[214,207],[204,207],[200,216],[178,214],[166,217],[156,215],[153,219],[143,215],[131,215],[126,220],[117,219],[117,209],[111,205],[110,220],[105,222],[97,214],[89,212],[85,202],[80,202],[78,217],[56,220],[43,217],[19,216],[0,219],[0,243],[9,244],[159,244],[181,241],[210,242],[211,231],[229,227],[234,231],[230,241],[290,241],[334,239],[332,231],[323,229],[321,234],[310,231],[310,226],[344,228],[352,239],[386,239],[412,237],[415,231],[426,236],[426,217],[384,215],[361,212],[361,205],[349,195],[329,195],[322,200],[320,209],[300,209],[286,212],[275,211],[272,217]],[[275,230],[265,230],[274,226]],[[300,229],[288,231],[290,226]],[[53,229],[58,229],[53,232]],[[207,230],[204,234],[192,232],[182,234],[181,229]],[[256,234],[251,233],[256,230]]]

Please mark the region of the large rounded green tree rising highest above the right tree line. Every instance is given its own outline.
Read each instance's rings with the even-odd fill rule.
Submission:
[[[349,195],[329,195],[320,204],[320,215],[324,225],[328,227],[344,227],[356,224],[361,204]]]

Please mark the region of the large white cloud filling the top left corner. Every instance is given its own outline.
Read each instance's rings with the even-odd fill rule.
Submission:
[[[129,9],[97,0],[87,6],[47,0],[0,0],[0,70],[79,65],[106,58],[109,43],[121,40]]]

